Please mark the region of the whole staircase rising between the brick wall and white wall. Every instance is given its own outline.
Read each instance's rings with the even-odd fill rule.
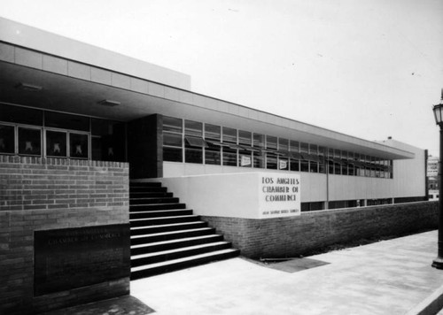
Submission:
[[[131,280],[239,255],[158,182],[130,183],[129,222]]]

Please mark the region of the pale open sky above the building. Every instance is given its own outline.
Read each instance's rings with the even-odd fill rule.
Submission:
[[[190,74],[206,96],[439,155],[441,0],[0,0],[0,16]]]

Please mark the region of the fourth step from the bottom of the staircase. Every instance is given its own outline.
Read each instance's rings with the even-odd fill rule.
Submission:
[[[183,237],[201,236],[207,234],[215,234],[213,227],[200,227],[187,230],[162,232],[154,234],[131,235],[131,245],[144,244],[150,242],[162,242],[180,239]]]

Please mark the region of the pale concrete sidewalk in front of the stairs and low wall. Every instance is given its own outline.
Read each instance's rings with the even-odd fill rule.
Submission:
[[[412,314],[441,291],[436,255],[432,231],[277,265],[229,259],[132,281],[131,295],[160,315]]]

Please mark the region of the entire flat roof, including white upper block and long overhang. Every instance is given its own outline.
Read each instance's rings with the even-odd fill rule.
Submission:
[[[156,67],[0,18],[0,102],[120,121],[159,113],[386,159],[415,157],[408,150],[193,93],[190,81],[185,84],[189,76]],[[171,81],[160,80],[162,75]],[[20,90],[20,82],[42,89]],[[120,105],[99,104],[105,99]]]

